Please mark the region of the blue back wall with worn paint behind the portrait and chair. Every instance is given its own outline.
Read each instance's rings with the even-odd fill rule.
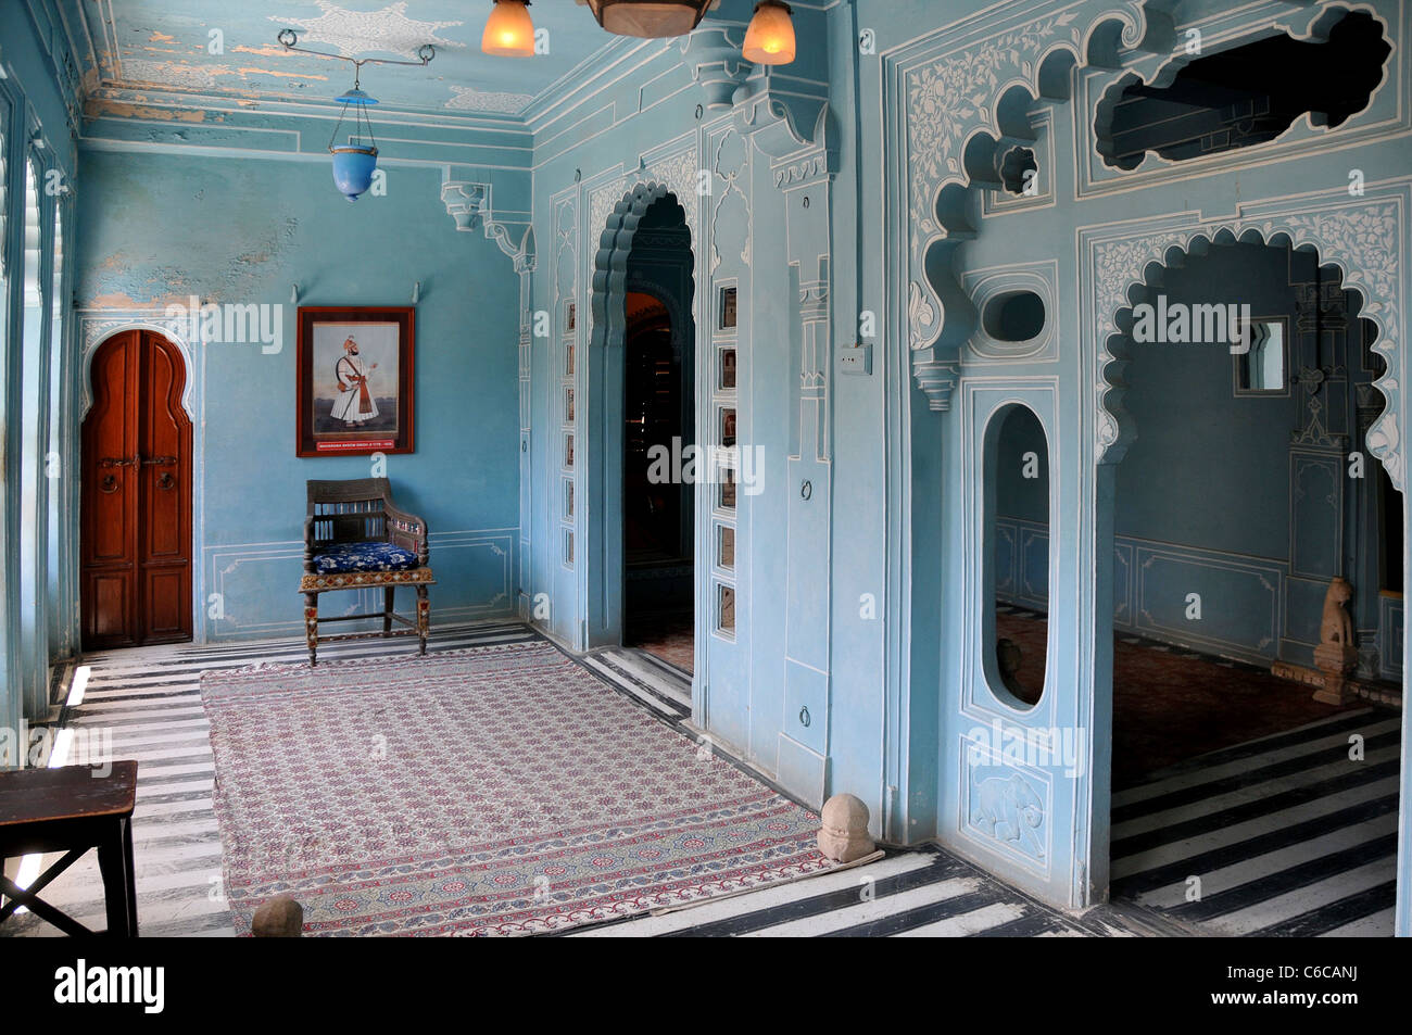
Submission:
[[[370,457],[294,456],[299,305],[417,306],[417,452],[388,456],[401,505],[432,531],[433,621],[513,611],[518,539],[515,353],[510,260],[459,234],[441,174],[393,168],[385,196],[349,205],[326,161],[89,150],[79,175],[78,299],[102,311],[203,302],[280,306],[282,349],[195,349],[198,628],[210,640],[302,628],[305,479],[367,477]],[[220,609],[210,594],[222,594]],[[357,594],[330,613],[369,610]]]

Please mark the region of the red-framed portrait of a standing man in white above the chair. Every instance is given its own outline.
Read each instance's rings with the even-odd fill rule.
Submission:
[[[415,309],[299,306],[298,456],[411,453]]]

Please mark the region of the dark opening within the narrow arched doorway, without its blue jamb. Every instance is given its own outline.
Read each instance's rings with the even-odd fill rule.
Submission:
[[[692,249],[672,195],[628,257],[623,378],[623,642],[695,666]]]

